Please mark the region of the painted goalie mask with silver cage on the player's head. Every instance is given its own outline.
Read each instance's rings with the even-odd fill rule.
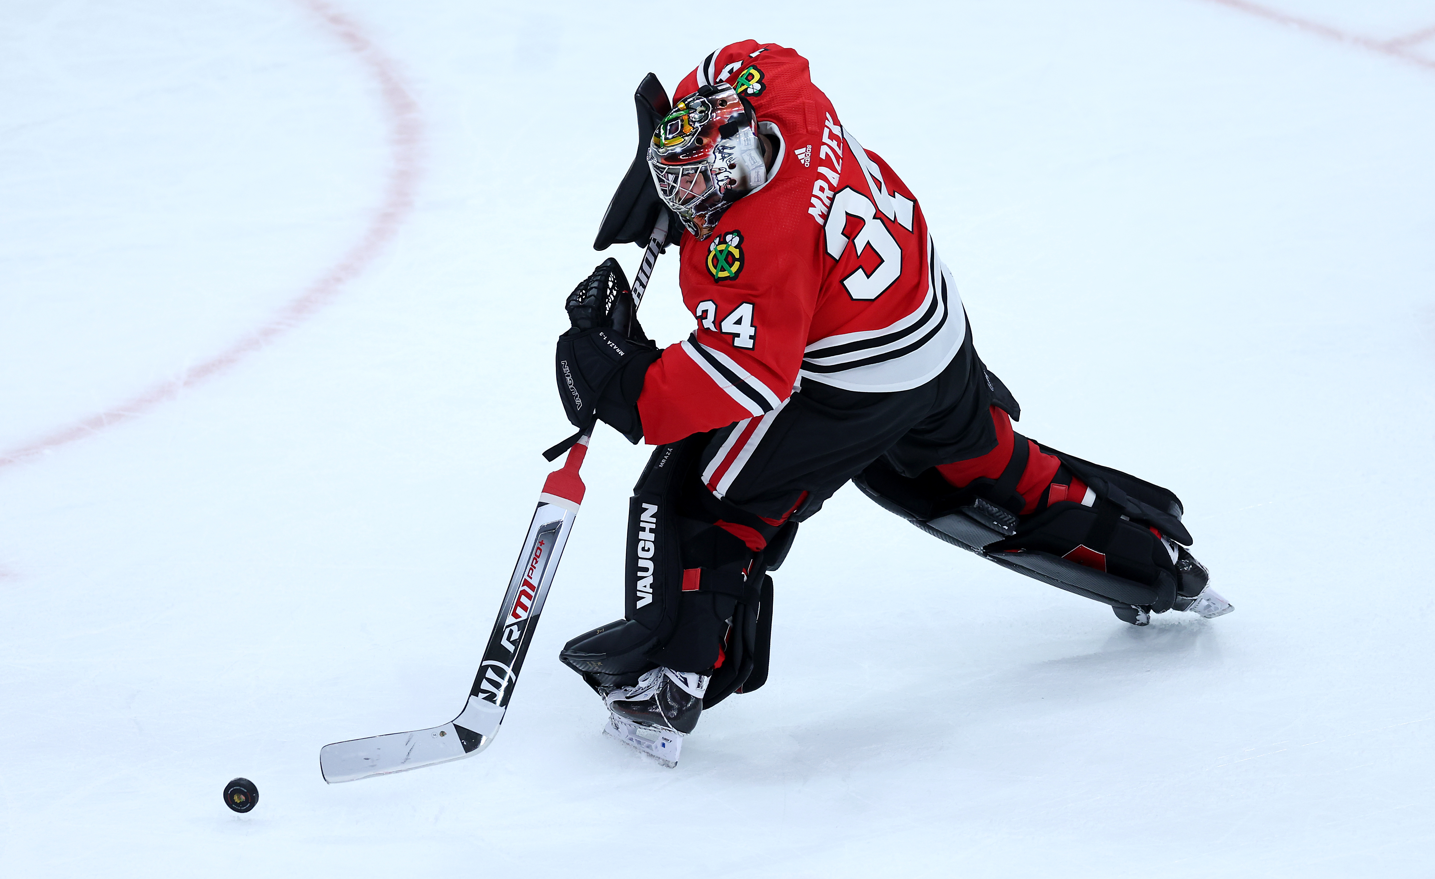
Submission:
[[[725,82],[697,89],[663,116],[647,165],[663,203],[699,241],[728,205],[768,182],[752,105]]]

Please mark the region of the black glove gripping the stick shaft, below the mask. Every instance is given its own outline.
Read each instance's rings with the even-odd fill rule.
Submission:
[[[573,327],[558,336],[558,396],[568,421],[613,425],[630,442],[643,438],[637,398],[647,368],[662,356],[637,322],[623,267],[607,259],[568,296]]]

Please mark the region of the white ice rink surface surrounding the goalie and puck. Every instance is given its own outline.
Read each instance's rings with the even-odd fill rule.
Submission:
[[[4,0],[0,875],[1435,876],[1435,1],[1263,3]],[[604,428],[497,743],[326,786],[461,708],[631,90],[749,36],[917,192],[1019,429],[1175,490],[1236,613],[844,488],[666,770],[557,662],[621,615]]]

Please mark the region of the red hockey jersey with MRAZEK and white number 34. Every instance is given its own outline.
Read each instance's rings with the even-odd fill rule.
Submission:
[[[916,197],[841,125],[792,49],[745,40],[689,73],[677,98],[725,80],[781,146],[768,182],[680,243],[697,320],[649,368],[639,414],[650,444],[739,421],[771,424],[801,382],[905,391],[966,339],[950,273]]]

